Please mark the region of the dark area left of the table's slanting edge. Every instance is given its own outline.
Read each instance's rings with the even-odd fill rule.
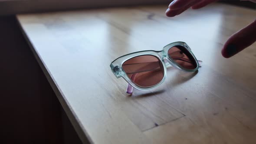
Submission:
[[[81,144],[15,16],[0,16],[0,143]]]

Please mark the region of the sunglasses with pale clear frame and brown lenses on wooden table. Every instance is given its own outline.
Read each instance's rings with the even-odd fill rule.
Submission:
[[[110,67],[116,78],[128,82],[127,93],[133,88],[147,91],[161,85],[166,71],[171,66],[184,72],[195,72],[199,62],[184,42],[170,43],[161,51],[147,50],[133,52],[115,59]]]

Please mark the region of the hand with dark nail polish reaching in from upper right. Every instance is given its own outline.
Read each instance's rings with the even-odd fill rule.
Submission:
[[[200,9],[205,7],[207,4],[215,2],[217,0],[174,0],[166,11],[166,15],[173,17],[183,13],[185,10],[189,9]],[[243,0],[246,1],[246,0]],[[256,3],[256,0],[250,0]],[[236,53],[242,51],[246,47],[252,45],[256,41],[256,20],[236,32],[227,40],[221,51],[222,56],[225,58],[230,58]]]

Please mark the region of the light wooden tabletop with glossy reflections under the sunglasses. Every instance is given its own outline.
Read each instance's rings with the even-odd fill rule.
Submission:
[[[167,6],[18,15],[62,107],[84,143],[256,144],[256,43],[225,59],[227,38],[256,11],[223,4],[164,15]],[[109,64],[186,42],[196,73],[168,70],[164,84],[126,94]]]

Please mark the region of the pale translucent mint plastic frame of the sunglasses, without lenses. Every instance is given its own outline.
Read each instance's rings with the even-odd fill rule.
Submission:
[[[193,58],[195,59],[196,62],[196,68],[195,69],[185,69],[184,67],[182,67],[181,65],[177,64],[169,55],[168,55],[168,50],[171,49],[174,46],[183,46],[184,48],[186,48],[188,50],[188,52],[190,52],[191,56],[193,56]],[[152,56],[156,56],[162,63],[163,68],[164,68],[164,77],[161,80],[161,82],[159,82],[156,85],[150,86],[150,87],[141,87],[137,84],[135,84],[134,82],[132,82],[132,80],[128,77],[128,75],[125,73],[124,69],[122,68],[122,65],[125,61],[127,61],[128,59],[134,58],[136,56],[143,56],[143,55],[152,55]],[[165,59],[167,60],[167,62],[165,62]],[[184,72],[195,72],[199,69],[200,65],[199,62],[197,60],[197,58],[194,56],[193,52],[191,51],[190,47],[187,45],[187,43],[184,42],[174,42],[174,43],[170,43],[167,46],[164,46],[164,48],[161,51],[154,51],[154,50],[145,50],[145,51],[139,51],[139,52],[133,52],[124,56],[121,56],[117,59],[115,59],[111,64],[110,67],[112,69],[112,72],[114,73],[114,75],[116,76],[116,78],[120,78],[123,77],[125,79],[125,81],[127,81],[129,83],[128,85],[128,89],[129,86],[131,85],[132,87],[140,90],[140,91],[148,91],[151,90],[152,88],[155,88],[159,85],[161,85],[165,78],[166,78],[166,73],[167,73],[167,68],[173,66],[177,69],[180,69]],[[131,92],[128,92],[131,91]],[[130,90],[128,90],[127,93],[132,93],[132,88],[130,88]]]

